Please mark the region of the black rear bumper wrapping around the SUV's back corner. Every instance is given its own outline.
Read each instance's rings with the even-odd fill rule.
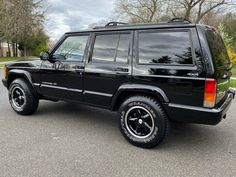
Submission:
[[[170,118],[171,120],[178,122],[216,125],[222,118],[226,117],[226,112],[234,97],[235,91],[229,90],[224,103],[220,107],[214,109],[169,104]]]

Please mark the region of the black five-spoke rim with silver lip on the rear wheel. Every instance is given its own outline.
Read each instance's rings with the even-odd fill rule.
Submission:
[[[125,126],[136,138],[147,138],[154,131],[154,119],[150,111],[141,106],[131,107],[125,115]]]

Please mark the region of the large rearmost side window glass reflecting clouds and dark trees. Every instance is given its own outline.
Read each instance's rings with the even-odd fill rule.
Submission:
[[[139,33],[139,63],[193,64],[189,33]]]

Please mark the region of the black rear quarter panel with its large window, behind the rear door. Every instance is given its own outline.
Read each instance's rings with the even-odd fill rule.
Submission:
[[[134,81],[161,88],[173,104],[202,106],[205,72],[196,29],[136,31]]]

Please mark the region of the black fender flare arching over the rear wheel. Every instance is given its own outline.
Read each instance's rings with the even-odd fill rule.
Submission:
[[[152,85],[143,84],[123,84],[121,85],[111,101],[111,109],[114,110],[116,102],[118,101],[120,95],[124,92],[142,92],[156,95],[162,103],[169,103],[169,99],[165,92],[159,87]]]

